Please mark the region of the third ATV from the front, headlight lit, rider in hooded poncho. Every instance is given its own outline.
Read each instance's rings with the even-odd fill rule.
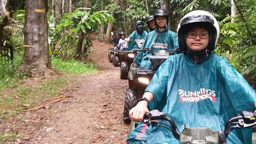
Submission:
[[[142,41],[130,40],[129,42],[135,42],[137,49],[140,49]],[[119,54],[120,65],[120,78],[127,79],[129,67],[133,62],[133,59],[137,56],[137,51],[124,51]]]

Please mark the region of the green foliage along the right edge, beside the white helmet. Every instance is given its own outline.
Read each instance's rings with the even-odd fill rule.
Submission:
[[[243,1],[237,3],[241,13],[237,13],[234,22],[231,16],[219,22],[220,38],[218,49],[222,55],[230,57],[231,65],[243,75],[256,77],[256,2]],[[242,17],[245,21],[242,20]]]

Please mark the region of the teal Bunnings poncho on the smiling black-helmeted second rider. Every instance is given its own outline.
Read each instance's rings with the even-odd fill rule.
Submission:
[[[158,28],[150,32],[148,36],[146,36],[145,42],[142,44],[140,49],[150,48],[154,53],[156,53],[159,50],[171,52],[172,49],[177,47],[179,47],[177,35],[173,31],[168,30],[167,27],[163,32],[159,32]],[[140,69],[151,69],[152,66],[149,60],[150,56],[150,52],[139,52],[134,58],[134,62],[140,65]]]

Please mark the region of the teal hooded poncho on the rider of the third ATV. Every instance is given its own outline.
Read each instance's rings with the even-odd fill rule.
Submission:
[[[139,28],[142,27],[143,25],[140,23],[137,23],[136,25],[136,30],[132,32],[132,34],[129,36],[131,39],[133,40],[142,40],[145,39],[146,36],[148,35],[148,33],[146,31],[139,31]],[[129,42],[129,47],[128,47],[128,51],[133,51],[137,49],[137,45],[134,42]]]

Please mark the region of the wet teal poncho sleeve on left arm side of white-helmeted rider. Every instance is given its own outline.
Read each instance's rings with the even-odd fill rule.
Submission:
[[[150,84],[145,89],[145,92],[151,92],[153,94],[155,106],[161,104],[161,101],[166,94],[167,82],[172,64],[170,58],[171,57],[165,60],[165,62],[158,68]]]

